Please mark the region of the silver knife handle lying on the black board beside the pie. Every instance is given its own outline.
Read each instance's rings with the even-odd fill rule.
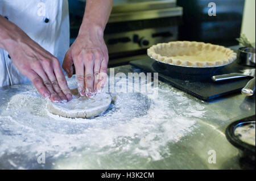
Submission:
[[[241,73],[214,75],[212,76],[212,81],[218,82],[218,81],[225,81],[225,80],[236,79],[241,77],[255,77],[255,69],[244,69],[240,71]]]

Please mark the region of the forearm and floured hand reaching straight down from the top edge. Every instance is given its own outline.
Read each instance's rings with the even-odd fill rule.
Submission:
[[[63,69],[72,77],[75,65],[81,96],[92,96],[105,85],[109,56],[103,35],[112,4],[113,0],[86,1],[79,35],[65,54]]]

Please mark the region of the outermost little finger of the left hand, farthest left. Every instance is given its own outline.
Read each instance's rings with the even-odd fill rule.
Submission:
[[[46,86],[44,86],[42,78],[38,74],[35,73],[33,70],[27,71],[27,77],[31,80],[31,82],[38,90],[39,94],[41,94],[44,98],[49,98],[51,95]]]

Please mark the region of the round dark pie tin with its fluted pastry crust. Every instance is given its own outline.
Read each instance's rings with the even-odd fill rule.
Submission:
[[[216,60],[213,63],[214,64],[208,64],[206,61],[200,62],[199,61],[180,61],[179,64],[177,61],[178,59],[175,59],[175,57],[169,57],[171,59],[171,62],[166,62],[167,54],[163,54],[157,52],[157,48],[159,49],[163,48],[166,52],[168,51],[167,49],[170,48],[170,46],[175,47],[175,51],[177,54],[180,54],[181,51],[188,51],[189,47],[191,47],[191,51],[189,51],[189,55],[192,53],[196,54],[196,52],[204,52],[203,48],[205,48],[206,52],[209,52],[209,50],[217,50],[218,52],[221,52],[225,54],[226,58],[222,60],[223,57],[218,57],[221,58],[220,60]],[[185,48],[183,50],[182,48]],[[193,48],[193,49],[192,49]],[[206,49],[207,48],[207,49]],[[225,50],[226,49],[226,50]],[[170,49],[171,50],[171,49]],[[193,50],[193,51],[192,51]],[[225,52],[223,52],[225,50]],[[170,52],[169,52],[170,53]],[[174,52],[171,52],[175,54]],[[156,45],[153,45],[152,47],[147,49],[147,55],[158,62],[159,67],[162,69],[167,69],[171,72],[175,73],[182,73],[182,74],[213,74],[215,73],[218,69],[231,64],[236,60],[236,53],[234,53],[233,50],[229,48],[222,47],[220,45],[213,45],[209,43],[204,43],[204,42],[196,42],[196,41],[171,41],[169,43],[159,43]],[[183,55],[182,53],[180,55]],[[184,54],[186,55],[186,53]],[[207,56],[207,53],[204,55]],[[176,62],[176,63],[175,63]],[[188,62],[190,62],[188,64]]]

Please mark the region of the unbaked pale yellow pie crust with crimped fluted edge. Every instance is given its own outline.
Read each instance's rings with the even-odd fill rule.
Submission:
[[[196,41],[171,41],[147,49],[151,58],[171,65],[209,68],[232,63],[237,54],[229,48]]]

